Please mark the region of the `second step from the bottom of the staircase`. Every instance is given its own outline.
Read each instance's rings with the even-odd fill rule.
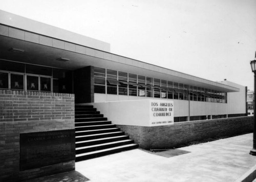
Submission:
[[[118,147],[121,145],[128,145],[128,144],[132,144],[132,143],[134,143],[134,141],[129,139],[129,140],[109,142],[109,143],[104,143],[104,144],[84,146],[84,147],[76,148],[76,154],[87,153],[87,152],[92,152],[92,151],[96,151],[96,150],[103,150],[103,149],[107,149],[107,148]]]

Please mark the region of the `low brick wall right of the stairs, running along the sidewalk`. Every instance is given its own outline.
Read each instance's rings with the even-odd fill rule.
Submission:
[[[195,140],[253,131],[253,117],[238,117],[143,127],[117,125],[143,149],[173,148]]]

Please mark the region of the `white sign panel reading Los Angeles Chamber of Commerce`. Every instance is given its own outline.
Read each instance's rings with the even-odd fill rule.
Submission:
[[[151,100],[150,126],[174,124],[174,102]]]

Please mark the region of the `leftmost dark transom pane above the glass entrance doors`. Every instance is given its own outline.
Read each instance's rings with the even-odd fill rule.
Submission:
[[[0,60],[0,70],[25,73],[25,64]]]

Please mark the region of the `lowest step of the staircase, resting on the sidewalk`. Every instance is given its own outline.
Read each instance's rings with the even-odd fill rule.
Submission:
[[[109,154],[113,154],[113,153],[117,153],[125,150],[131,150],[135,148],[138,148],[138,144],[128,144],[128,145],[122,145],[122,146],[112,147],[112,148],[103,149],[103,150],[97,150],[93,152],[76,154],[76,162],[88,160],[90,158],[99,157],[103,155],[109,155]]]

